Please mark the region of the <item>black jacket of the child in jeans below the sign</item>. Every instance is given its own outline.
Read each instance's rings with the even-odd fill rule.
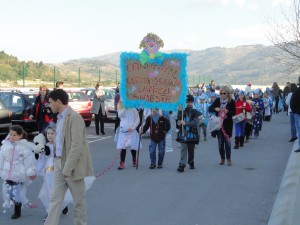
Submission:
[[[152,116],[148,116],[143,127],[143,133],[150,128],[150,137],[153,141],[159,142],[166,138],[166,133],[170,130],[170,121],[160,116],[157,123],[154,123]]]

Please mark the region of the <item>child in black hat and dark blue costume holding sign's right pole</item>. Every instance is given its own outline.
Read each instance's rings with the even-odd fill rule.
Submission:
[[[201,113],[193,109],[193,95],[187,95],[186,103],[186,108],[178,111],[176,123],[176,128],[179,129],[176,141],[181,143],[180,160],[177,171],[181,173],[184,172],[186,163],[189,164],[190,169],[195,169],[195,145],[199,144],[198,117]]]

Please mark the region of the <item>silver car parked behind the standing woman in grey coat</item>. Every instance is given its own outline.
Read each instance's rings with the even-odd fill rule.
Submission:
[[[83,91],[91,101],[95,96],[95,88],[82,88]],[[105,91],[105,120],[115,120],[117,117],[117,110],[115,109],[115,90],[111,88],[104,88]]]

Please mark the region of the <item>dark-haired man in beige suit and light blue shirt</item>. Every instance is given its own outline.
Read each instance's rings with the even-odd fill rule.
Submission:
[[[74,224],[86,225],[84,178],[93,176],[93,164],[82,116],[68,106],[68,94],[56,89],[49,94],[54,113],[58,112],[54,147],[54,174],[48,217],[45,225],[58,225],[61,206],[69,188],[74,199]]]

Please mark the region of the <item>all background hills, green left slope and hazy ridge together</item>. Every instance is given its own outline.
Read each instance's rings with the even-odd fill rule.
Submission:
[[[257,85],[271,85],[277,81],[284,85],[286,81],[297,81],[300,74],[298,71],[290,74],[287,66],[274,60],[274,55],[278,52],[274,46],[246,45],[197,51],[186,49],[167,51],[172,52],[188,54],[187,73],[190,85],[209,83],[210,80],[215,80],[218,84],[246,84],[251,81]],[[112,86],[120,80],[120,53],[49,65],[43,62],[20,62],[16,57],[0,52],[0,79],[2,81],[22,79],[25,65],[26,79],[53,82],[55,66],[56,80],[63,80],[67,84],[92,86],[100,78],[103,85]]]

